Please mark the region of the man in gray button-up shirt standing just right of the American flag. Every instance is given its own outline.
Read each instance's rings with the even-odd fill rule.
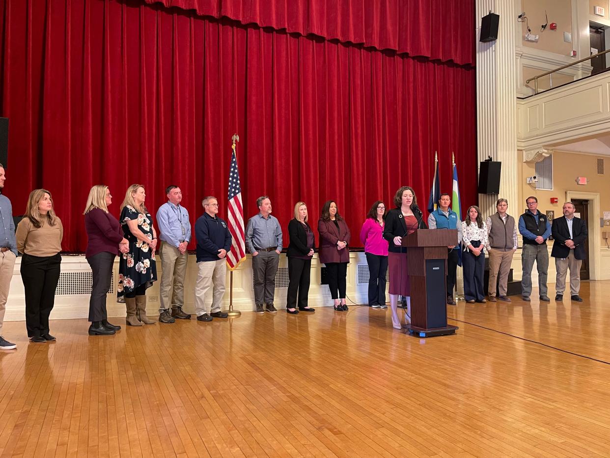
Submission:
[[[271,200],[263,195],[256,200],[260,213],[248,220],[246,249],[252,254],[254,271],[254,303],[256,313],[278,313],[273,307],[275,274],[278,272],[279,253],[282,252],[282,228],[276,217],[271,216]]]

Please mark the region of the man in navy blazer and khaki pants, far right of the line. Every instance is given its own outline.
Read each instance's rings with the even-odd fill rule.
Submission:
[[[580,291],[580,266],[586,258],[584,243],[587,239],[587,225],[574,216],[574,204],[564,203],[564,216],[553,220],[551,234],[553,234],[553,250],[551,256],[555,258],[557,280],[555,283],[555,300],[562,300],[565,291],[565,275],[570,269],[570,296],[576,302],[583,302],[578,296]]]

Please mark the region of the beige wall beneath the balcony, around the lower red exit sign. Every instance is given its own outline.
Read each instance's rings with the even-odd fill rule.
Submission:
[[[604,211],[610,211],[610,180],[608,180],[608,172],[606,172],[606,175],[597,175],[598,158],[605,159],[606,170],[608,170],[608,167],[610,167],[610,157],[608,156],[554,151],[553,191],[541,191],[525,183],[527,176],[536,175],[536,164],[526,164],[521,161],[519,214],[523,213],[525,209],[525,198],[529,195],[535,195],[538,198],[540,211],[554,210],[555,216],[561,216],[561,208],[565,202],[567,191],[598,192],[601,202],[600,213],[603,215]],[[586,176],[588,183],[585,186],[576,184],[577,176]],[[557,197],[559,202],[551,204],[551,197]],[[517,214],[514,207],[513,213]],[[603,228],[602,231],[610,231],[610,226]],[[606,242],[603,239],[601,239],[601,246],[603,250],[606,247]]]

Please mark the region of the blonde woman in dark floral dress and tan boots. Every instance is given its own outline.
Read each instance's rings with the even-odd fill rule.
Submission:
[[[127,188],[121,204],[119,218],[124,237],[129,241],[129,252],[123,253],[119,261],[117,301],[125,302],[127,324],[142,326],[156,321],[146,316],[146,288],[157,280],[154,250],[157,233],[152,227],[152,218],[144,201],[146,192],[142,184]]]

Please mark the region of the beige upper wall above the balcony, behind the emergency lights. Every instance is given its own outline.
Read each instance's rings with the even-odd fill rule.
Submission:
[[[553,31],[547,26],[547,29],[540,33],[540,26],[546,22],[545,10],[548,15],[548,23],[556,23],[557,29]],[[528,18],[531,34],[539,35],[538,43],[526,42],[527,28],[526,24],[523,23],[522,46],[561,54],[562,56],[570,54],[573,49],[572,43],[564,42],[564,32],[572,34],[572,0],[522,0],[522,11],[525,11]]]

